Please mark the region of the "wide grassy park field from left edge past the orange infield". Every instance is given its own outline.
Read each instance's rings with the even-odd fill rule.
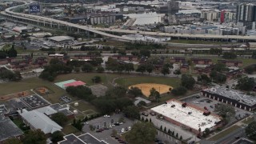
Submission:
[[[41,86],[45,86],[50,89],[53,93],[44,95],[46,100],[56,103],[60,102],[58,98],[66,94],[66,91],[62,88],[55,86],[55,82],[62,82],[70,79],[80,80],[86,82],[87,86],[91,86],[94,82],[91,81],[95,75],[102,78],[102,85],[107,87],[112,87],[112,82],[114,78],[117,79],[115,82],[120,86],[131,86],[138,83],[153,82],[159,84],[166,84],[169,86],[176,87],[180,83],[178,78],[167,78],[167,77],[150,77],[150,76],[133,76],[129,74],[98,74],[98,73],[80,73],[80,74],[63,74],[59,75],[54,82],[44,81],[40,78],[26,78],[22,79],[20,82],[6,82],[0,83],[0,95],[14,94],[24,90],[32,90]],[[78,98],[71,97],[73,101],[78,101]],[[94,110],[94,109],[92,109]]]

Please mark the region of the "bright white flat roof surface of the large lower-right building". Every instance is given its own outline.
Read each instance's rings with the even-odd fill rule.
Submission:
[[[171,107],[174,106],[174,107]],[[176,122],[182,123],[184,126],[198,130],[201,128],[202,131],[206,128],[211,128],[216,125],[217,122],[221,121],[221,118],[210,114],[208,116],[203,115],[203,111],[187,105],[182,107],[182,102],[176,100],[170,100],[166,104],[156,106],[151,110],[155,111],[158,114],[173,119]],[[191,114],[189,114],[189,112]]]

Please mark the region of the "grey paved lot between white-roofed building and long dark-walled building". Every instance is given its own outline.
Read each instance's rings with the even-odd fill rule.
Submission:
[[[195,106],[201,107],[202,109],[204,109],[206,107],[207,110],[210,110],[210,112],[213,112],[213,113],[215,113],[214,112],[215,105],[218,103],[222,103],[222,102],[218,102],[211,98],[203,97],[200,94],[195,94],[194,96],[192,96],[190,98],[183,99],[182,102],[191,103]],[[236,112],[235,118],[232,118],[230,122],[234,122],[239,119],[245,118],[246,114],[252,114],[249,111],[239,109],[238,107],[234,107],[234,110]]]

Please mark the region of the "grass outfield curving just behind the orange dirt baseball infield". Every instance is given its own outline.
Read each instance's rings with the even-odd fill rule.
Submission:
[[[120,86],[132,86],[139,83],[158,83],[177,87],[180,84],[179,78],[139,76],[130,78],[118,78],[116,81]]]

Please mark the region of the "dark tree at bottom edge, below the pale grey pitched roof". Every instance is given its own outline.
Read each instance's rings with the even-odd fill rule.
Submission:
[[[46,144],[46,135],[42,130],[29,130],[22,139],[24,144]]]

